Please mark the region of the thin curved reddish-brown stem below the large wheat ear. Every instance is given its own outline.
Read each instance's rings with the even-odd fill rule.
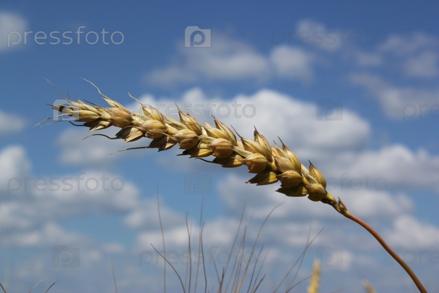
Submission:
[[[369,226],[366,222],[361,220],[359,217],[351,214],[347,209],[346,206],[343,204],[343,202],[339,198],[339,202],[337,203],[332,195],[329,193],[325,196],[325,198],[322,200],[323,203],[331,205],[334,209],[336,209],[340,214],[345,216],[348,219],[351,219],[352,221],[358,223],[361,225],[364,229],[368,230],[369,233],[372,234],[372,236],[375,237],[375,239],[378,240],[379,244],[399,263],[399,265],[409,274],[409,276],[412,278],[413,282],[415,282],[416,287],[418,287],[420,293],[427,293],[427,290],[425,290],[424,286],[419,281],[416,274],[410,269],[410,267],[402,260],[402,258],[399,257],[399,255],[393,251],[393,249],[390,248],[390,246],[382,239],[382,237],[378,234],[377,231],[375,231],[372,227]]]

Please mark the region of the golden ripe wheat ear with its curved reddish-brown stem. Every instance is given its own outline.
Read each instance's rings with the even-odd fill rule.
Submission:
[[[91,82],[89,83],[92,84]],[[54,110],[60,111],[61,114],[43,121],[56,117],[70,116],[75,118],[76,122],[83,122],[82,126],[89,127],[89,131],[116,126],[121,129],[116,133],[114,139],[123,139],[125,142],[136,141],[143,137],[152,139],[149,146],[135,148],[158,148],[161,151],[178,144],[180,149],[184,149],[182,155],[189,155],[191,158],[203,158],[212,155],[215,159],[211,162],[220,164],[222,167],[245,165],[248,167],[249,173],[256,174],[247,183],[267,185],[280,181],[280,188],[276,191],[291,197],[308,195],[310,200],[328,204],[343,216],[357,222],[368,230],[410,275],[419,292],[427,292],[416,274],[387,245],[378,232],[355,215],[349,213],[340,198],[336,201],[326,190],[326,180],[323,174],[311,162],[309,169],[303,166],[296,154],[285,146],[282,141],[280,141],[282,147],[276,143],[274,146],[270,146],[265,137],[256,128],[254,140],[240,136],[234,129],[240,138],[239,141],[228,126],[215,118],[215,127],[208,123],[202,126],[193,116],[183,113],[177,106],[180,116],[180,121],[177,121],[164,116],[152,106],[143,105],[131,95],[133,99],[140,103],[142,110],[140,113],[130,112],[118,102],[102,94],[96,85],[92,85],[98,89],[101,97],[110,107],[102,107],[91,102],[88,102],[91,104],[88,105],[80,100],[75,102],[70,96],[70,99],[67,99],[54,86],[70,105],[51,105]]]

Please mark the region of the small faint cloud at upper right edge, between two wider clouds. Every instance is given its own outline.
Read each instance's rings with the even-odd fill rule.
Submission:
[[[408,58],[404,63],[404,72],[410,77],[437,77],[438,69],[438,53],[423,52],[418,57]]]

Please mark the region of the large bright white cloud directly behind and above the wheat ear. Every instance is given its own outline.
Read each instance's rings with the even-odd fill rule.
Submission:
[[[175,100],[145,95],[140,97],[140,101],[160,106],[163,114],[178,119]],[[326,106],[326,102],[323,102],[320,104]],[[252,138],[256,126],[268,141],[276,140],[279,144],[279,136],[290,148],[309,159],[334,151],[362,149],[370,134],[369,124],[349,109],[342,110],[341,120],[328,121],[322,119],[325,115],[320,108],[322,105],[304,102],[270,89],[226,100],[207,97],[202,90],[194,88],[184,93],[178,104],[184,111],[200,119],[201,123],[207,121],[213,124],[212,116],[215,116],[247,138]],[[129,107],[135,108],[136,105]]]

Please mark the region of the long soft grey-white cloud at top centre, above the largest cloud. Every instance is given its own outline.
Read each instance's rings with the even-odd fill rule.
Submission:
[[[265,81],[276,72],[289,79],[309,81],[313,76],[312,54],[298,47],[276,47],[268,56],[257,52],[244,42],[214,35],[209,48],[181,48],[181,63],[157,68],[145,76],[150,84],[172,86],[202,80]]]

